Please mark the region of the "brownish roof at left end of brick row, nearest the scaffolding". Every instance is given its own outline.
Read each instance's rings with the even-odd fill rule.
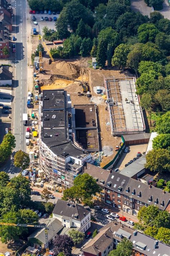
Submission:
[[[106,184],[106,180],[109,177],[110,172],[107,170],[104,170],[98,166],[91,165],[90,163],[86,163],[84,166],[84,172],[91,175],[96,180],[98,179],[97,183],[100,184],[101,180],[104,180],[104,184]],[[104,185],[103,184],[103,185]],[[102,184],[100,184],[102,185]]]

